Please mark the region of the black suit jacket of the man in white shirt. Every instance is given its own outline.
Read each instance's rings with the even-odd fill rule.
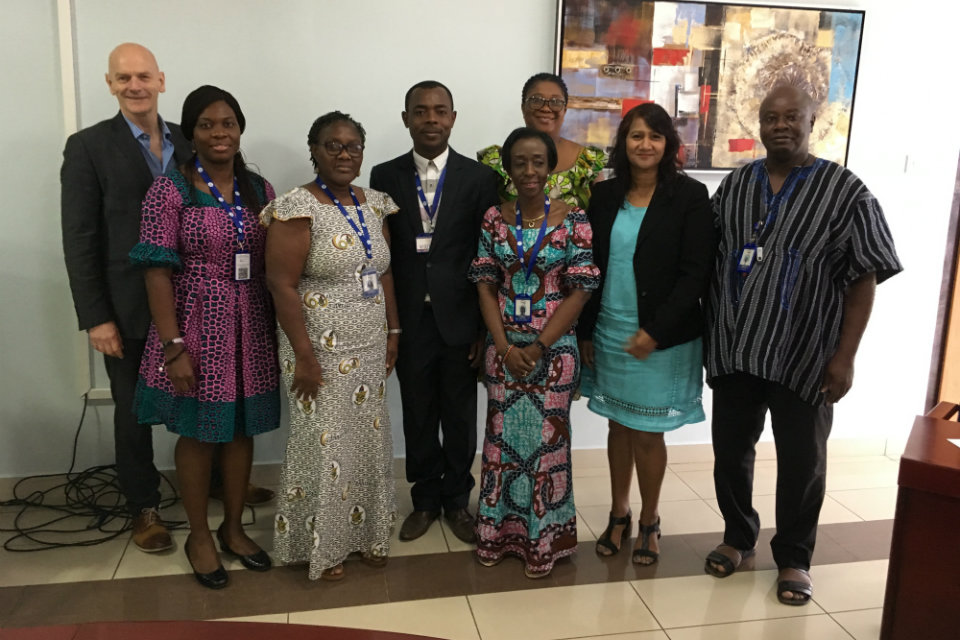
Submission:
[[[483,214],[500,202],[499,178],[489,167],[450,149],[437,226],[430,251],[424,254],[416,248],[423,224],[415,170],[413,153],[408,151],[370,172],[370,187],[386,192],[400,207],[387,218],[393,283],[404,331],[400,339],[416,330],[429,293],[444,341],[468,344],[477,339],[481,321],[477,287],[467,279],[467,270],[477,255]]]

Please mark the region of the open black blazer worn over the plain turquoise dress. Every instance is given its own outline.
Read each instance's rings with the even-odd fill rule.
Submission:
[[[593,228],[593,257],[601,272],[601,295],[591,296],[580,315],[577,335],[581,340],[593,339],[600,313],[610,233],[623,204],[618,192],[615,180],[593,186],[587,216]],[[685,175],[678,175],[670,184],[658,184],[633,254],[639,324],[657,341],[658,349],[703,334],[700,301],[709,284],[716,247],[707,188]]]

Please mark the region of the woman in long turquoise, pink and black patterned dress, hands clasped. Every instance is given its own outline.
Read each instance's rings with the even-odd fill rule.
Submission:
[[[574,324],[600,273],[586,215],[544,196],[557,163],[553,140],[521,128],[503,148],[519,197],[487,211],[470,268],[490,331],[477,559],[493,566],[517,555],[527,577],[541,578],[577,546],[570,467],[570,402],[580,377]]]

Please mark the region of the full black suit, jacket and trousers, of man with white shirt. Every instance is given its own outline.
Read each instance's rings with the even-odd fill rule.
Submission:
[[[403,329],[397,378],[407,480],[413,483],[418,511],[465,508],[474,485],[470,466],[477,450],[477,376],[468,354],[483,325],[467,269],[477,255],[483,214],[499,202],[497,175],[488,167],[453,149],[446,167],[428,253],[416,250],[423,224],[413,154],[377,165],[370,173],[370,186],[388,193],[400,207],[389,218],[391,270]]]

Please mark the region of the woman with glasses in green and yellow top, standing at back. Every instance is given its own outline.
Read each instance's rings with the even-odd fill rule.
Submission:
[[[585,147],[560,136],[569,97],[563,78],[552,73],[538,73],[524,83],[520,109],[526,126],[546,133],[557,148],[557,166],[547,176],[550,197],[563,200],[571,207],[586,209],[591,185],[606,166],[607,154],[597,147]],[[477,159],[500,174],[503,180],[500,199],[503,202],[516,200],[517,187],[504,166],[500,146],[481,149],[477,152]]]

